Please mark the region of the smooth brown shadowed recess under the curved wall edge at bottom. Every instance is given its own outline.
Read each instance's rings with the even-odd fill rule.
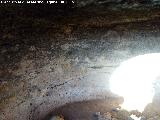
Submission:
[[[96,120],[97,112],[113,112],[122,102],[123,99],[117,97],[68,103],[52,111],[44,120],[54,115],[62,115],[65,120]]]

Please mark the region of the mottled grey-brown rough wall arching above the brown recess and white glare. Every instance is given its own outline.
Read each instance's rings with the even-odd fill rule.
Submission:
[[[120,62],[160,52],[159,8],[0,9],[2,120],[40,120],[66,103],[112,98],[108,80]]]

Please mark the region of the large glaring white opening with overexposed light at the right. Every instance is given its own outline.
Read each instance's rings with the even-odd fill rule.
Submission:
[[[160,75],[160,54],[145,54],[123,62],[110,78],[111,91],[124,97],[122,108],[142,112],[154,95]]]

